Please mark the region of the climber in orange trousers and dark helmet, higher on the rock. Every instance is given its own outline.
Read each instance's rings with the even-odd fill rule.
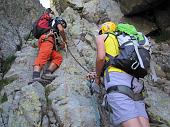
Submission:
[[[62,18],[56,17],[50,23],[51,30],[41,35],[38,39],[38,54],[33,66],[33,82],[41,82],[42,79],[49,81],[55,79],[56,76],[53,75],[53,72],[60,67],[63,60],[62,55],[56,50],[56,46],[58,45],[56,45],[55,36],[56,34],[61,36],[62,42],[60,43],[60,47],[62,49],[66,48],[67,39],[64,31],[66,26],[67,24]],[[41,70],[48,61],[50,61],[49,67],[40,76]]]

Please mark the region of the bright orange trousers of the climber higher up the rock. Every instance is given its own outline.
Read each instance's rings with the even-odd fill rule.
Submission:
[[[58,67],[61,65],[63,57],[54,48],[54,37],[43,34],[38,40],[38,55],[34,61],[34,66],[43,67],[49,60]]]

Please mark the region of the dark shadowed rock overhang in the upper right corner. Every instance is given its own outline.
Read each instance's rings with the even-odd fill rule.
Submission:
[[[156,29],[161,30],[161,34],[164,34],[169,39],[170,35],[170,2],[165,0],[117,0],[122,13],[126,16],[132,16],[131,18],[138,18],[141,15],[143,21],[152,21],[155,25],[147,25],[150,29],[148,32]],[[133,20],[133,19],[132,19]],[[143,24],[140,22],[139,24]],[[144,24],[147,24],[146,22]],[[150,26],[150,27],[148,27]],[[144,27],[145,28],[145,27]]]

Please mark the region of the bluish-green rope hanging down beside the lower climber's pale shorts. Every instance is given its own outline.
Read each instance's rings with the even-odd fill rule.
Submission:
[[[100,116],[100,111],[99,111],[99,105],[97,102],[97,98],[94,96],[94,90],[92,88],[93,82],[94,82],[94,80],[88,80],[87,86],[89,87],[89,90],[90,90],[92,106],[95,111],[96,127],[101,127],[101,116]]]

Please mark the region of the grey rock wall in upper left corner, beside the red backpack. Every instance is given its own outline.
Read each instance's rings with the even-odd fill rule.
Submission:
[[[43,7],[34,0],[0,0],[0,48],[4,57],[20,50]]]

